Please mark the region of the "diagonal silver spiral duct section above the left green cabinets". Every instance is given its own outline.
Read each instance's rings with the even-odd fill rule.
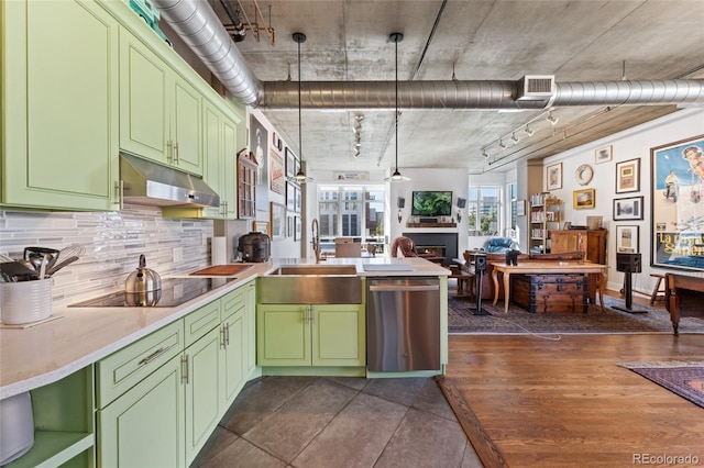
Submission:
[[[200,57],[226,88],[248,105],[262,99],[262,82],[244,63],[220,19],[207,1],[152,0],[162,18]]]

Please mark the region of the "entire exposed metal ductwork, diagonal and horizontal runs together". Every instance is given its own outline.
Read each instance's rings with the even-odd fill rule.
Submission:
[[[244,104],[298,109],[298,83],[260,81],[207,1],[152,0],[162,18]],[[640,80],[556,83],[544,100],[516,100],[518,81],[398,82],[404,109],[527,110],[549,107],[676,104],[704,102],[704,80]],[[304,109],[394,109],[394,81],[308,81]]]

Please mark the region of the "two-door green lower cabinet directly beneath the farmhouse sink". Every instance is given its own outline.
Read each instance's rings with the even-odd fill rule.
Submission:
[[[256,317],[260,366],[366,364],[363,304],[260,304]]]

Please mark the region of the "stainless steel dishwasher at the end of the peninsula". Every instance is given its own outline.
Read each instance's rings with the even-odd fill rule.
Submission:
[[[440,280],[386,277],[366,283],[367,369],[440,369]]]

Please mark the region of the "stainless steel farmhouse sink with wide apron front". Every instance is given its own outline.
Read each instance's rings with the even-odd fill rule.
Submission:
[[[354,265],[284,266],[257,280],[263,304],[359,304],[362,279]]]

